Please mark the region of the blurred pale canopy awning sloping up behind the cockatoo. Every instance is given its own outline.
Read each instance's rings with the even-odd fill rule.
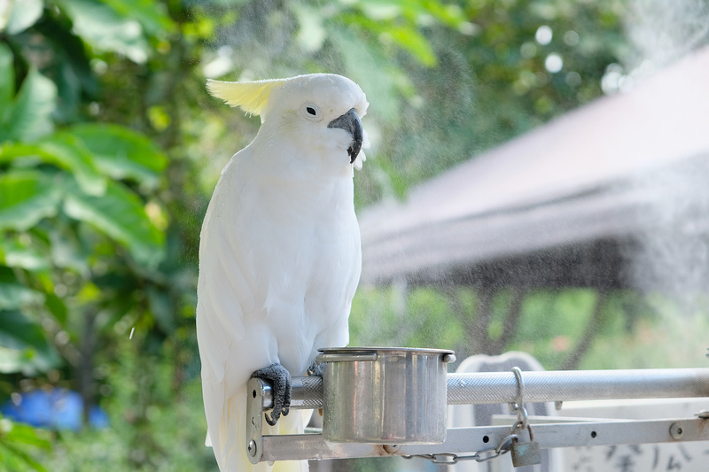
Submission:
[[[664,177],[706,168],[709,48],[365,209],[362,282],[623,285]]]

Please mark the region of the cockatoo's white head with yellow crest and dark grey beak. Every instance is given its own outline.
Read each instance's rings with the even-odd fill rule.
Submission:
[[[287,134],[303,149],[343,158],[362,167],[367,147],[360,119],[367,112],[362,89],[335,74],[299,75],[271,81],[207,81],[207,89],[231,106],[261,115],[263,128]],[[359,159],[358,159],[359,158]]]

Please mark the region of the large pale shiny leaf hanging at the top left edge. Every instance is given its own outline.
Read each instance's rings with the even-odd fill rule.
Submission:
[[[150,46],[135,19],[96,0],[59,0],[58,4],[73,20],[76,33],[98,50],[125,54],[138,64],[147,60]]]

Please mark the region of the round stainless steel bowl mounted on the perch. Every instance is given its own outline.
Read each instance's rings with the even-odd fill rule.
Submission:
[[[446,364],[441,349],[321,349],[323,436],[339,443],[440,444],[446,440]]]

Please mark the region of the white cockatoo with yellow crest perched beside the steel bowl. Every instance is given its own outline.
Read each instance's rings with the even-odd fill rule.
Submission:
[[[366,147],[367,99],[334,74],[208,81],[214,97],[261,115],[252,143],[222,170],[199,244],[197,338],[207,445],[222,472],[268,470],[246,457],[246,383],[274,384],[264,434],[302,432],[290,375],[317,350],[347,345],[362,254],[353,167]],[[303,469],[307,462],[277,462]]]

